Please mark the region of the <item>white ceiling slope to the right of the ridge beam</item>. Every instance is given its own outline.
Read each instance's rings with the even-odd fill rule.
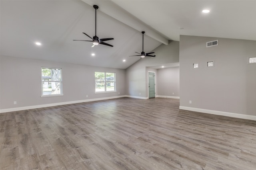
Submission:
[[[180,34],[256,40],[256,0],[114,2],[170,40],[179,41]],[[204,9],[210,13],[202,13]]]

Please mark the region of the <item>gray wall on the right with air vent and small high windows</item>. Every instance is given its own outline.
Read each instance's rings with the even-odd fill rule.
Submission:
[[[180,106],[256,115],[256,64],[247,64],[255,56],[256,41],[181,35]]]

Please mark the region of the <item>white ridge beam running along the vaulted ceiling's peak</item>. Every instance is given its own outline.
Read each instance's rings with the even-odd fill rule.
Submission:
[[[104,12],[105,14],[115,18],[116,20],[138,30],[138,31],[145,31],[145,34],[149,37],[168,45],[168,39],[154,31],[154,29],[150,28],[148,25],[140,21],[138,18],[134,17],[132,14],[127,12],[126,10],[122,9],[120,6],[115,4],[112,1],[106,0],[82,0],[86,4],[90,6],[98,5],[100,11]]]

